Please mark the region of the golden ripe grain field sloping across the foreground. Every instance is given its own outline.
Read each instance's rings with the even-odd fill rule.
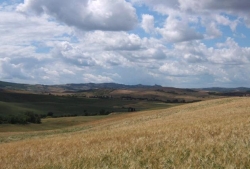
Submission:
[[[249,103],[210,100],[24,133],[0,144],[0,168],[250,168]]]

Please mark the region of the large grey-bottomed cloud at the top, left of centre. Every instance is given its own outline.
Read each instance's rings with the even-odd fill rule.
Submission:
[[[25,0],[17,10],[46,13],[82,30],[131,30],[137,24],[135,9],[125,0]]]

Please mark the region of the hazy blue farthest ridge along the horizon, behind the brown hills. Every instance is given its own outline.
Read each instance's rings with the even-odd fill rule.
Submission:
[[[168,92],[176,90],[185,90],[185,92],[197,92],[197,91],[207,91],[207,92],[250,92],[250,88],[239,87],[239,88],[223,88],[223,87],[212,87],[212,88],[200,88],[200,89],[178,89],[173,87],[162,87],[160,85],[125,85],[118,83],[80,83],[80,84],[62,84],[62,85],[41,85],[41,84],[19,84],[0,81],[0,89],[4,90],[19,90],[27,91],[33,93],[50,93],[50,92],[79,92],[93,89],[141,89],[141,90],[166,90]]]

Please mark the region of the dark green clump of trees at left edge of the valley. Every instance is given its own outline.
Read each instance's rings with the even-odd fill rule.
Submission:
[[[10,124],[28,124],[28,123],[41,123],[41,116],[35,114],[32,111],[27,111],[25,113],[20,113],[16,115],[1,116],[0,124],[10,123]]]

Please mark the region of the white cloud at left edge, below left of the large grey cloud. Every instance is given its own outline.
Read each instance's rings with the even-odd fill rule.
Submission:
[[[46,16],[27,18],[13,11],[0,11],[0,15],[0,44],[30,45],[31,41],[52,40],[72,32],[68,27],[49,22]]]

